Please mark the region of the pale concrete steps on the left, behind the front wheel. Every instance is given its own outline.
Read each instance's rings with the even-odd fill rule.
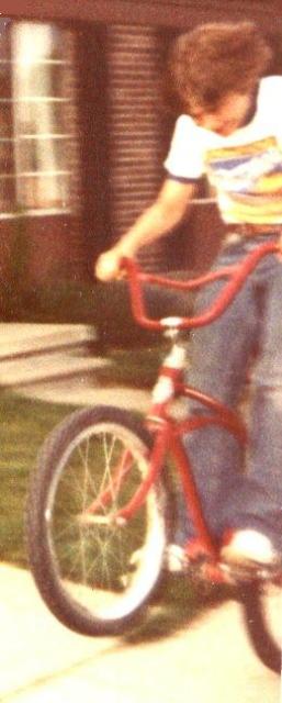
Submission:
[[[106,403],[146,412],[149,394],[139,389],[103,388],[99,372],[111,367],[93,353],[87,325],[0,324],[0,388],[46,402]]]

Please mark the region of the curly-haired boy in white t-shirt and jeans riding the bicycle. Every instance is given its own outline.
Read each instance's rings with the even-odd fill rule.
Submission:
[[[261,78],[270,58],[252,22],[204,24],[177,40],[170,65],[183,114],[165,163],[167,178],[156,202],[99,258],[101,280],[115,278],[123,256],[181,221],[204,174],[227,225],[215,268],[235,265],[266,238],[281,243],[282,77]],[[200,293],[198,312],[216,292],[218,283]],[[226,431],[210,427],[187,439],[210,528],[228,562],[272,566],[282,551],[280,301],[282,263],[271,255],[224,315],[193,334],[190,382],[233,408],[259,348],[247,475]],[[193,412],[206,411],[193,404]],[[187,551],[193,539],[188,524]]]

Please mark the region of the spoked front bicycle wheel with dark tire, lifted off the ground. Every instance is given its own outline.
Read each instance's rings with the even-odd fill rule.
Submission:
[[[86,635],[120,634],[157,585],[166,547],[161,484],[124,521],[148,472],[150,438],[126,411],[69,415],[46,439],[27,498],[27,547],[55,616]]]

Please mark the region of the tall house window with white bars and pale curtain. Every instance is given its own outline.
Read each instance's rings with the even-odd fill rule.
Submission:
[[[0,216],[70,212],[78,204],[74,35],[40,22],[2,30]]]

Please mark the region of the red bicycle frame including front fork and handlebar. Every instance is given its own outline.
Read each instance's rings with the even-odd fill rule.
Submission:
[[[278,245],[275,243],[264,243],[258,246],[239,265],[223,268],[219,271],[208,272],[189,281],[176,281],[161,276],[143,272],[138,269],[135,261],[132,259],[124,259],[123,268],[126,270],[128,278],[133,315],[138,324],[148,330],[170,330],[172,335],[176,336],[176,342],[172,347],[176,353],[178,345],[178,332],[181,330],[200,327],[216,320],[234,300],[247,277],[256,268],[261,258],[278,250]],[[223,286],[223,289],[218,293],[215,302],[201,315],[192,317],[166,317],[162,320],[151,320],[148,317],[145,310],[143,283],[156,283],[161,287],[188,291],[195,290],[214,280],[221,279],[227,279],[227,282]],[[177,355],[174,354],[174,356]],[[230,409],[214,398],[187,386],[183,381],[183,368],[184,364],[176,364],[170,357],[168,357],[168,359],[165,360],[165,364],[160,367],[160,375],[157,380],[157,384],[155,386],[155,391],[153,392],[153,405],[146,417],[146,425],[149,428],[149,432],[154,435],[153,448],[148,457],[149,471],[132,500],[115,515],[115,520],[121,522],[129,520],[136,510],[143,505],[148,491],[165,466],[166,456],[169,454],[172,456],[176,467],[180,473],[187,507],[193,521],[201,545],[207,553],[211,562],[216,565],[218,548],[208,532],[195,487],[192,466],[181,442],[181,437],[187,433],[194,432],[195,429],[203,428],[207,425],[216,425],[233,433],[234,436],[237,437],[238,442],[245,444],[247,439],[246,429],[237,414]],[[208,411],[211,411],[210,414],[202,416],[191,415],[182,421],[176,420],[171,416],[169,410],[171,403],[180,397],[199,401],[202,405],[207,408]],[[121,480],[123,480],[123,478],[128,473],[131,460],[129,453],[126,451],[126,456],[122,461],[123,466],[116,467],[113,487],[119,487]],[[112,486],[105,490],[102,496],[104,502],[108,502],[110,499],[111,490]],[[88,512],[93,513],[95,507],[97,504],[92,504]],[[215,569],[215,571],[213,571],[213,578],[223,580],[223,574],[219,570],[216,571]]]

